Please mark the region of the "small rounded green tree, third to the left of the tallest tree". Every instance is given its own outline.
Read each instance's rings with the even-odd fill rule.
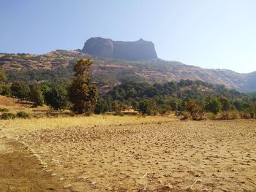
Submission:
[[[11,86],[12,96],[18,99],[26,100],[29,99],[30,88],[23,82],[13,82]]]

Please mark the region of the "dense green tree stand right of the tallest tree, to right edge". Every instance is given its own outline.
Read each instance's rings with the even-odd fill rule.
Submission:
[[[223,85],[211,85],[199,80],[154,84],[127,80],[100,96],[95,112],[124,110],[132,106],[147,115],[187,111],[193,119],[198,119],[205,112],[218,114],[237,110],[255,114],[255,101],[255,95],[249,96]]]

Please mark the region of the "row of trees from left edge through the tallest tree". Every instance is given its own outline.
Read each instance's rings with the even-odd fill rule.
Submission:
[[[34,107],[48,104],[53,110],[65,110],[67,108],[80,114],[89,115],[94,112],[97,104],[97,88],[91,85],[89,74],[92,61],[80,59],[74,66],[74,80],[71,85],[59,83],[35,83],[27,85],[25,82],[13,82],[12,85],[4,85],[7,80],[4,71],[0,70],[0,93],[4,96],[12,96],[20,101],[32,101]]]

